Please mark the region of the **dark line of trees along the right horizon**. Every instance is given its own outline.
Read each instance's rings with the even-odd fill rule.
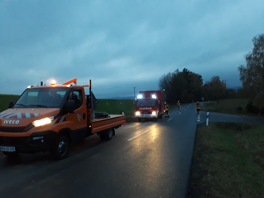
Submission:
[[[232,98],[257,98],[264,101],[264,34],[253,37],[253,49],[244,55],[246,65],[239,65],[238,71],[242,88],[237,91],[226,87],[219,76],[212,76],[203,84],[203,78],[187,68],[164,74],[158,81],[161,90],[165,90],[166,101],[176,103],[212,101]]]

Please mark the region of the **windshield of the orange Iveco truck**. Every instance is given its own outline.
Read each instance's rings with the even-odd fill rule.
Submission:
[[[66,91],[66,88],[27,89],[14,108],[59,108]]]

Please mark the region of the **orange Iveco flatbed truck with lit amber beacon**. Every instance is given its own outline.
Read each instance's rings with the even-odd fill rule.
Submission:
[[[51,151],[64,159],[72,142],[97,133],[111,140],[115,129],[126,124],[125,115],[96,118],[97,101],[89,85],[72,79],[61,85],[29,86],[15,104],[0,113],[0,150],[8,156]],[[84,88],[89,88],[85,95]]]

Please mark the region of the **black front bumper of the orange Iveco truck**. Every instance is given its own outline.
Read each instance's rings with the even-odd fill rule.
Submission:
[[[58,133],[53,131],[32,133],[29,137],[0,136],[1,151],[7,151],[6,149],[15,150],[18,153],[50,151],[57,136]]]

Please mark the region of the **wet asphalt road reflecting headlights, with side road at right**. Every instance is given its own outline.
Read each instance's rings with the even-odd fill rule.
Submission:
[[[19,154],[17,159],[1,153],[0,195],[185,197],[196,125],[206,122],[207,112],[197,115],[192,103],[169,114],[118,128],[110,141],[87,137],[60,161],[51,160],[49,152]],[[232,120],[255,122],[246,116],[209,113],[209,122]]]

